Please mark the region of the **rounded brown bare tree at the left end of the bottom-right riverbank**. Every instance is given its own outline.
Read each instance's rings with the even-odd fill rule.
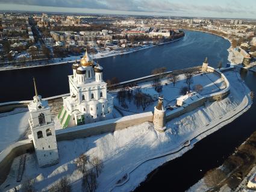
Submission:
[[[216,187],[223,179],[225,179],[226,175],[220,169],[209,170],[204,177],[204,182],[208,187]]]

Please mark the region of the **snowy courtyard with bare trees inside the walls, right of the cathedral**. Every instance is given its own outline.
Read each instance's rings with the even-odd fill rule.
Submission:
[[[176,98],[179,98],[181,96],[180,91],[183,87],[187,87],[186,79],[184,75],[179,75],[179,81],[175,83],[175,86],[173,86],[173,83],[169,81],[167,78],[161,79],[161,84],[163,85],[163,90],[160,93],[157,93],[155,91],[155,88],[152,87],[151,82],[145,82],[140,83],[136,88],[133,90],[133,94],[137,90],[141,90],[143,93],[151,95],[153,98],[155,98],[155,101],[149,105],[145,111],[143,111],[142,107],[137,110],[136,105],[134,104],[134,100],[131,101],[129,104],[128,99],[126,99],[126,104],[128,105],[128,108],[123,108],[117,99],[117,91],[110,92],[112,96],[114,97],[114,105],[119,108],[119,110],[122,111],[124,116],[129,116],[136,113],[143,113],[148,111],[154,111],[154,107],[157,105],[158,96],[163,96],[164,98],[164,105],[167,107],[168,105],[175,105],[176,104]],[[193,90],[193,87],[195,85],[201,84],[202,85],[202,96],[207,96],[211,93],[216,93],[220,90],[223,90],[225,88],[225,82],[222,78],[220,78],[217,73],[202,73],[193,76],[193,83],[190,86]]]

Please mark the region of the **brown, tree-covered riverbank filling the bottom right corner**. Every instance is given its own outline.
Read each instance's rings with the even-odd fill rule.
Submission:
[[[198,183],[190,187],[191,192],[219,191],[226,188],[228,191],[245,191],[249,187],[255,190],[256,176],[256,132],[243,142],[236,151],[228,156],[224,163],[216,169],[207,172]],[[214,175],[218,172],[219,176]],[[213,181],[214,182],[211,182]]]

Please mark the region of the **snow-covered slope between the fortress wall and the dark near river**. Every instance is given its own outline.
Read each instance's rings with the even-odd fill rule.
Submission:
[[[166,125],[166,132],[156,132],[152,123],[145,122],[108,134],[60,141],[58,142],[60,163],[41,169],[37,165],[34,153],[27,154],[22,181],[35,178],[36,189],[42,190],[50,187],[62,176],[68,175],[73,191],[81,191],[82,175],[76,170],[74,160],[81,153],[86,153],[90,157],[98,156],[104,162],[104,169],[98,178],[97,191],[134,190],[152,170],[166,161],[181,156],[201,138],[248,110],[251,105],[249,89],[238,73],[225,72],[225,75],[231,84],[228,98],[219,102],[208,102],[205,107],[199,107],[171,120]],[[184,144],[188,140],[190,140],[189,146]],[[16,182],[19,158],[14,159],[10,174],[0,190],[4,190],[7,185],[10,186],[5,190],[20,184]],[[117,184],[125,175],[127,175],[126,181]]]

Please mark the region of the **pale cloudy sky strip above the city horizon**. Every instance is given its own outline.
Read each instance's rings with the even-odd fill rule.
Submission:
[[[0,10],[256,19],[256,0],[0,0]]]

